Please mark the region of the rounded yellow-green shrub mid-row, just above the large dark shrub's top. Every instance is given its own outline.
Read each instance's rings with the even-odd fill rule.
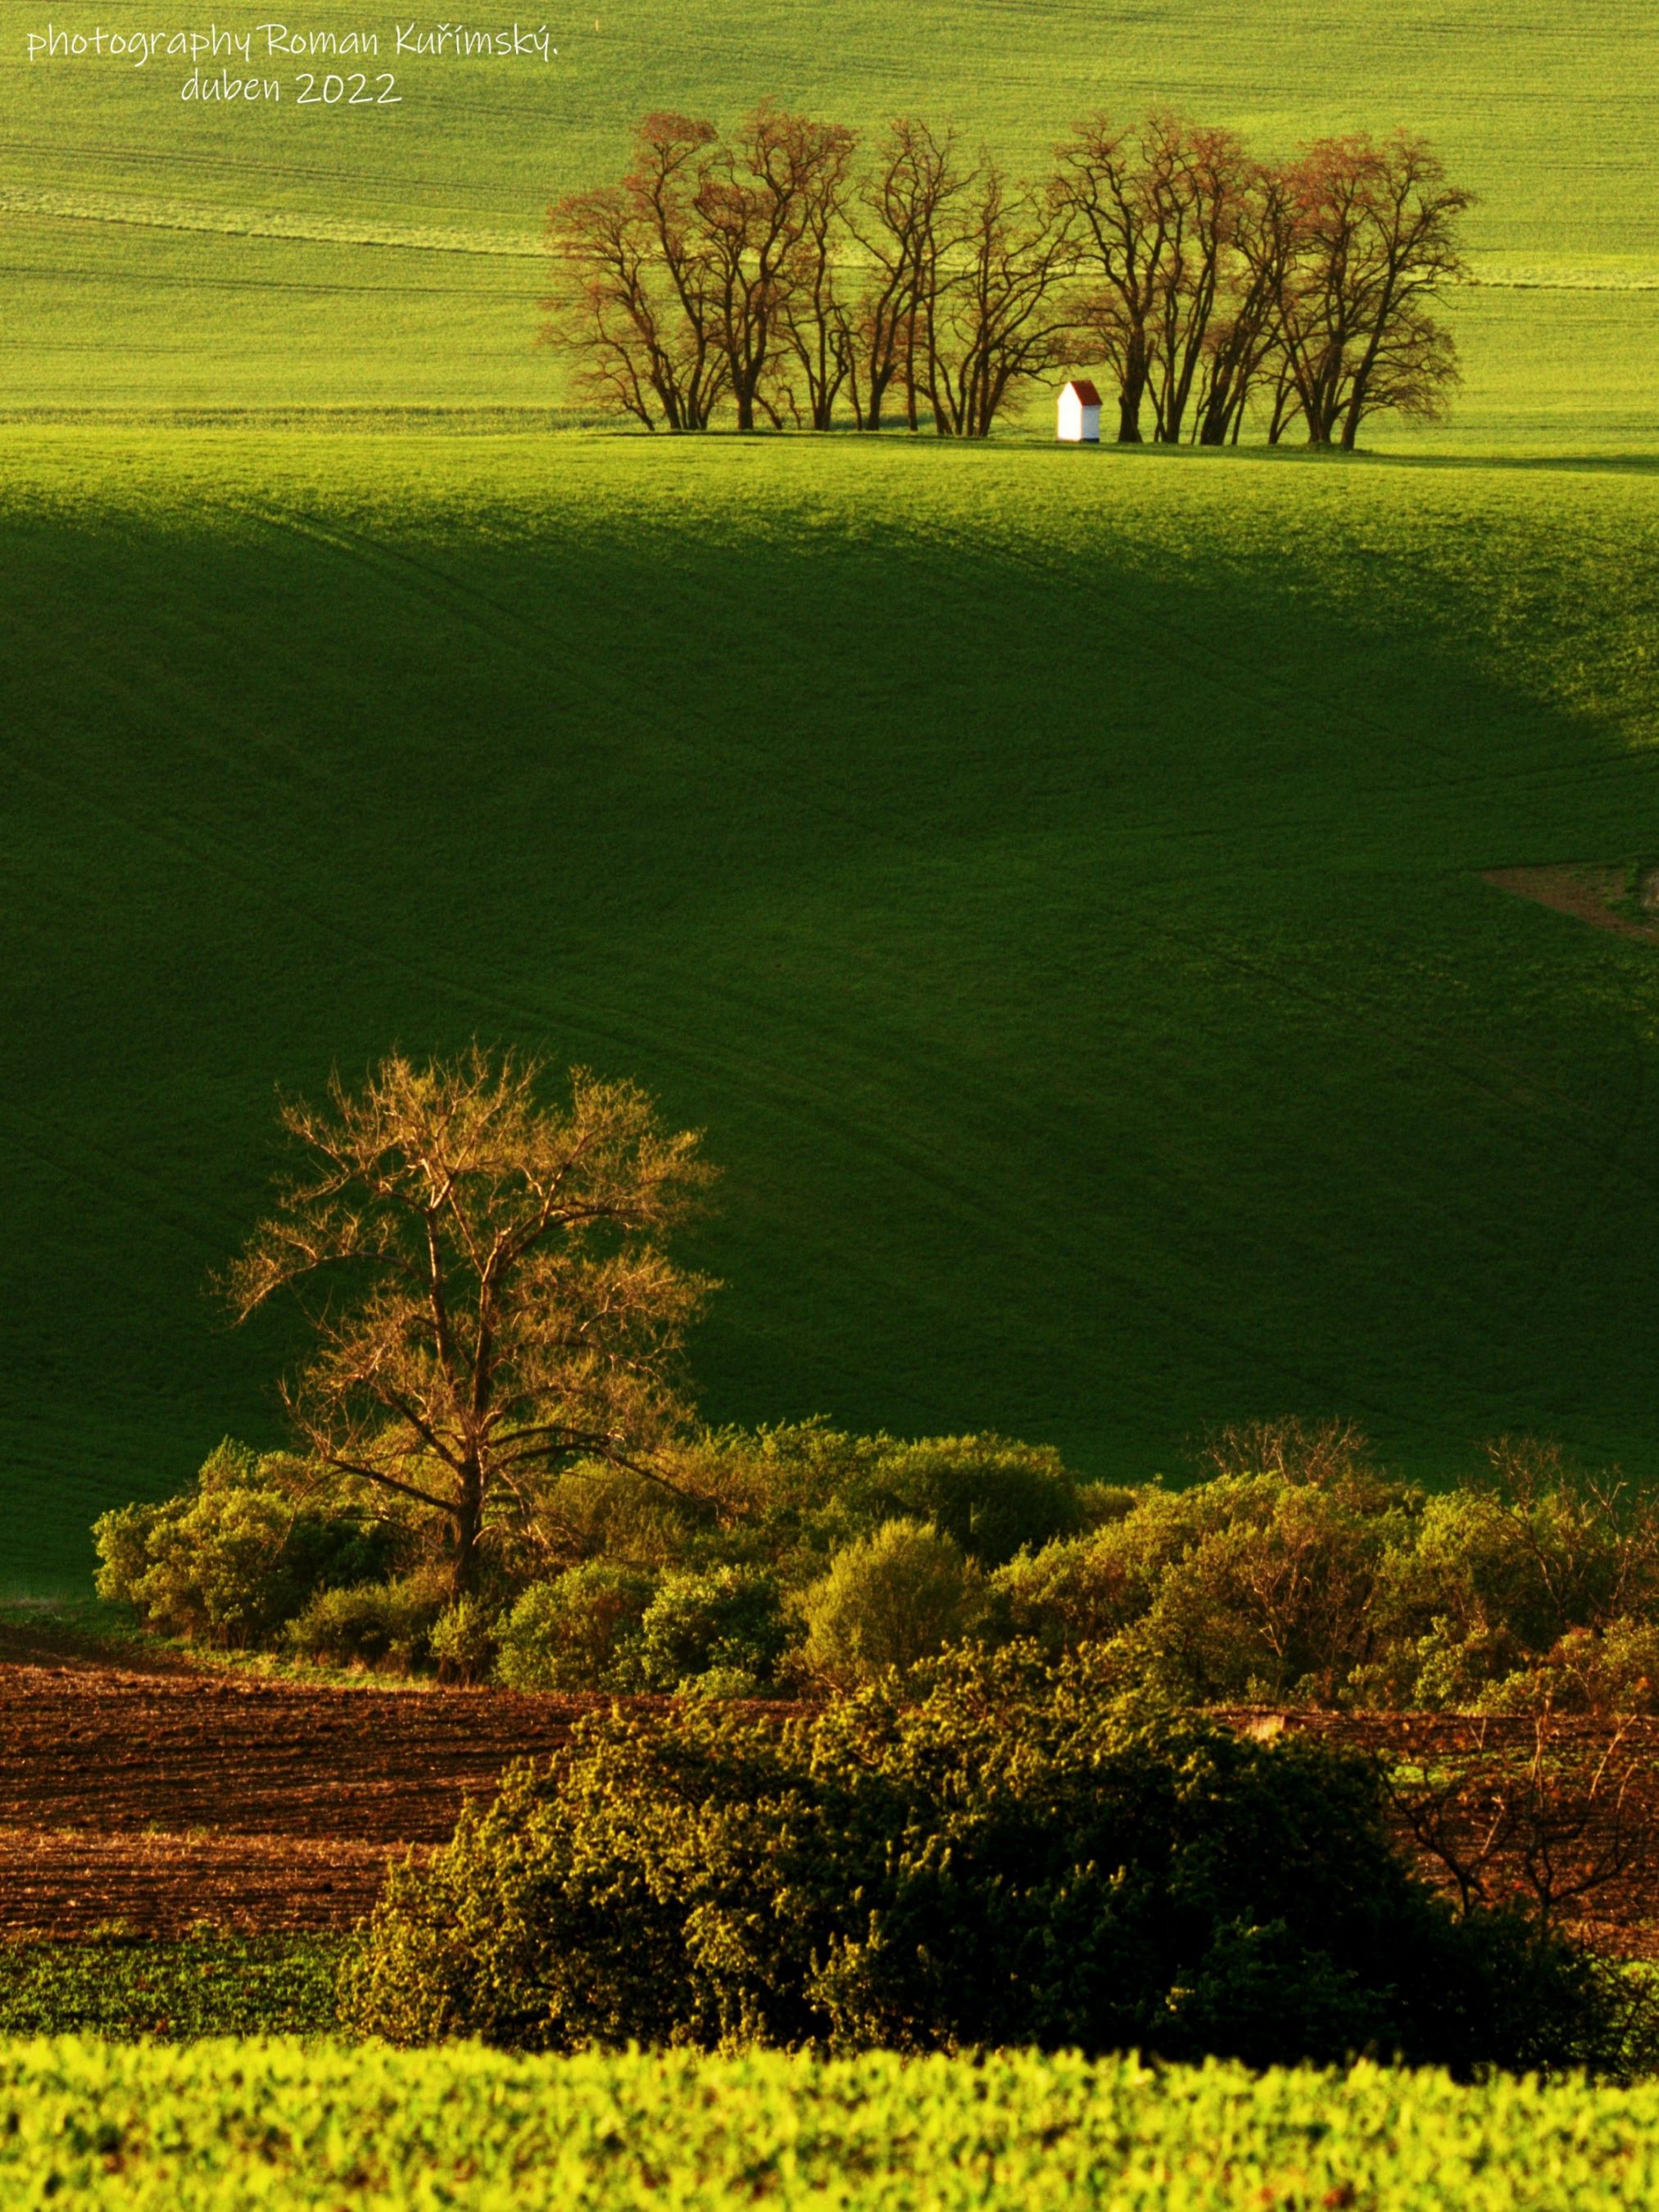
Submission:
[[[887,1522],[836,1553],[805,1593],[805,1663],[838,1683],[905,1672],[960,1637],[978,1601],[978,1571],[947,1535],[922,1522]]]

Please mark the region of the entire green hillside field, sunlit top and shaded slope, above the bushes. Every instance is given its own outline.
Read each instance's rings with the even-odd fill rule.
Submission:
[[[204,1296],[272,1086],[473,1033],[708,1128],[712,1418],[1659,1469],[1659,949],[1482,883],[1659,858],[1659,15],[597,7],[352,113],[29,66],[0,0],[0,1586],[274,1440],[290,1345]],[[1425,128],[1482,192],[1458,416],[582,429],[546,197],[765,93],[1033,164],[1093,102]]]

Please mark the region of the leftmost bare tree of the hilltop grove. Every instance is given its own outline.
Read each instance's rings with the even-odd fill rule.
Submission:
[[[549,208],[542,343],[573,354],[582,389],[648,429],[706,429],[726,387],[714,268],[692,208],[712,139],[712,124],[646,115],[619,186]]]

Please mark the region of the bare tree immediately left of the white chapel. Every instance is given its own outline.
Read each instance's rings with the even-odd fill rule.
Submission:
[[[1077,323],[1062,288],[1073,250],[1064,217],[995,161],[980,166],[951,248],[925,301],[933,427],[989,438],[1020,385],[1071,358]]]

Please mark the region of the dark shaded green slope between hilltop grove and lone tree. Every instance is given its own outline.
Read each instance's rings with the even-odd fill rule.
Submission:
[[[1646,462],[7,431],[13,1590],[274,1438],[272,1086],[644,1079],[712,1418],[1655,1467]]]

